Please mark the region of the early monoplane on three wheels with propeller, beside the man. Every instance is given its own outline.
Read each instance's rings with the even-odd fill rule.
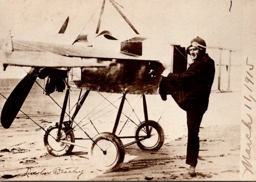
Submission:
[[[60,121],[46,130],[41,127],[45,131],[44,144],[53,156],[67,155],[77,145],[73,131],[75,127],[80,128],[80,123],[76,122],[75,118],[89,92],[123,94],[120,97],[121,103],[112,133],[103,132],[91,137],[83,130],[92,140],[91,154],[101,161],[101,169],[116,170],[124,161],[124,147],[137,144],[142,150],[158,150],[164,144],[162,127],[158,122],[148,119],[145,95],[158,94],[161,74],[165,68],[171,69],[172,72],[184,71],[187,68],[187,60],[184,47],[172,44],[168,44],[167,47],[161,44],[157,47],[154,42],[140,36],[132,23],[120,11],[118,4],[113,0],[109,2],[137,36],[120,41],[107,30],[99,31],[105,5],[105,0],[103,0],[96,33],[91,37],[79,34],[71,44],[54,44],[17,40],[15,37],[12,38],[9,32],[7,38],[1,40],[0,59],[4,69],[8,65],[32,67],[6,100],[1,113],[1,124],[4,128],[9,128],[36,82],[36,78],[47,78],[44,88],[46,95],[50,95],[53,91],[67,89]],[[69,28],[69,21],[69,17],[64,20],[58,34],[65,34]],[[92,44],[97,40],[101,40],[104,44],[100,46]],[[159,49],[163,51],[163,54],[158,53]],[[163,58],[163,55],[167,57]],[[75,70],[78,70],[76,78],[73,74]],[[70,87],[79,88],[81,92],[74,114],[69,117],[68,121],[64,121],[65,114],[68,115],[66,108]],[[81,94],[82,90],[86,90],[84,94]],[[124,114],[122,109],[126,94],[142,95],[145,121],[137,125],[135,135],[117,137],[116,129],[120,116]],[[127,115],[125,117],[130,119]],[[135,140],[124,145],[120,138],[134,138]]]

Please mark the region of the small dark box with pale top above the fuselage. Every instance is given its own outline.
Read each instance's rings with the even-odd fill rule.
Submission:
[[[146,38],[133,37],[132,39],[121,42],[121,52],[141,56],[142,55],[142,42]]]

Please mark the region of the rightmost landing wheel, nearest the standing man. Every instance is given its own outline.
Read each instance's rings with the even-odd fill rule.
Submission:
[[[150,138],[137,142],[137,145],[142,150],[159,150],[164,144],[164,130],[155,121],[149,120],[148,127],[150,132]],[[135,130],[135,139],[138,140],[142,136],[147,136],[145,121],[140,123]]]

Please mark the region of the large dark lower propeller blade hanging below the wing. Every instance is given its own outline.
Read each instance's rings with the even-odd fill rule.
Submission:
[[[32,68],[20,83],[18,83],[6,100],[1,113],[1,124],[4,128],[10,128],[13,120],[27,98],[29,91],[36,81],[37,76],[34,75],[35,72],[36,69]]]

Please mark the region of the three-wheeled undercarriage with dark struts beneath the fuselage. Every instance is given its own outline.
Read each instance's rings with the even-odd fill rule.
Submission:
[[[74,146],[78,146],[75,144],[72,124],[78,111],[80,110],[85,99],[87,98],[89,91],[85,92],[81,100],[80,92],[78,99],[80,100],[80,102],[76,105],[76,110],[71,117],[71,120],[63,122],[68,102],[69,89],[70,88],[68,86],[60,115],[60,122],[56,123],[55,126],[48,128],[44,135],[44,144],[48,152],[54,156],[69,154]],[[145,95],[142,95],[145,121],[137,125],[138,127],[135,130],[135,136],[116,136],[116,129],[119,124],[121,114],[124,114],[122,113],[122,110],[124,106],[125,96],[126,95],[123,94],[112,133],[103,132],[99,133],[94,138],[91,138],[84,131],[87,137],[92,140],[92,160],[94,160],[94,164],[99,170],[113,171],[118,169],[124,162],[124,147],[126,146],[130,146],[136,143],[142,150],[159,150],[164,144],[164,131],[162,127],[157,122],[148,120],[148,110]],[[130,119],[128,116],[126,117]],[[124,145],[121,141],[121,138],[134,138],[135,141]]]

